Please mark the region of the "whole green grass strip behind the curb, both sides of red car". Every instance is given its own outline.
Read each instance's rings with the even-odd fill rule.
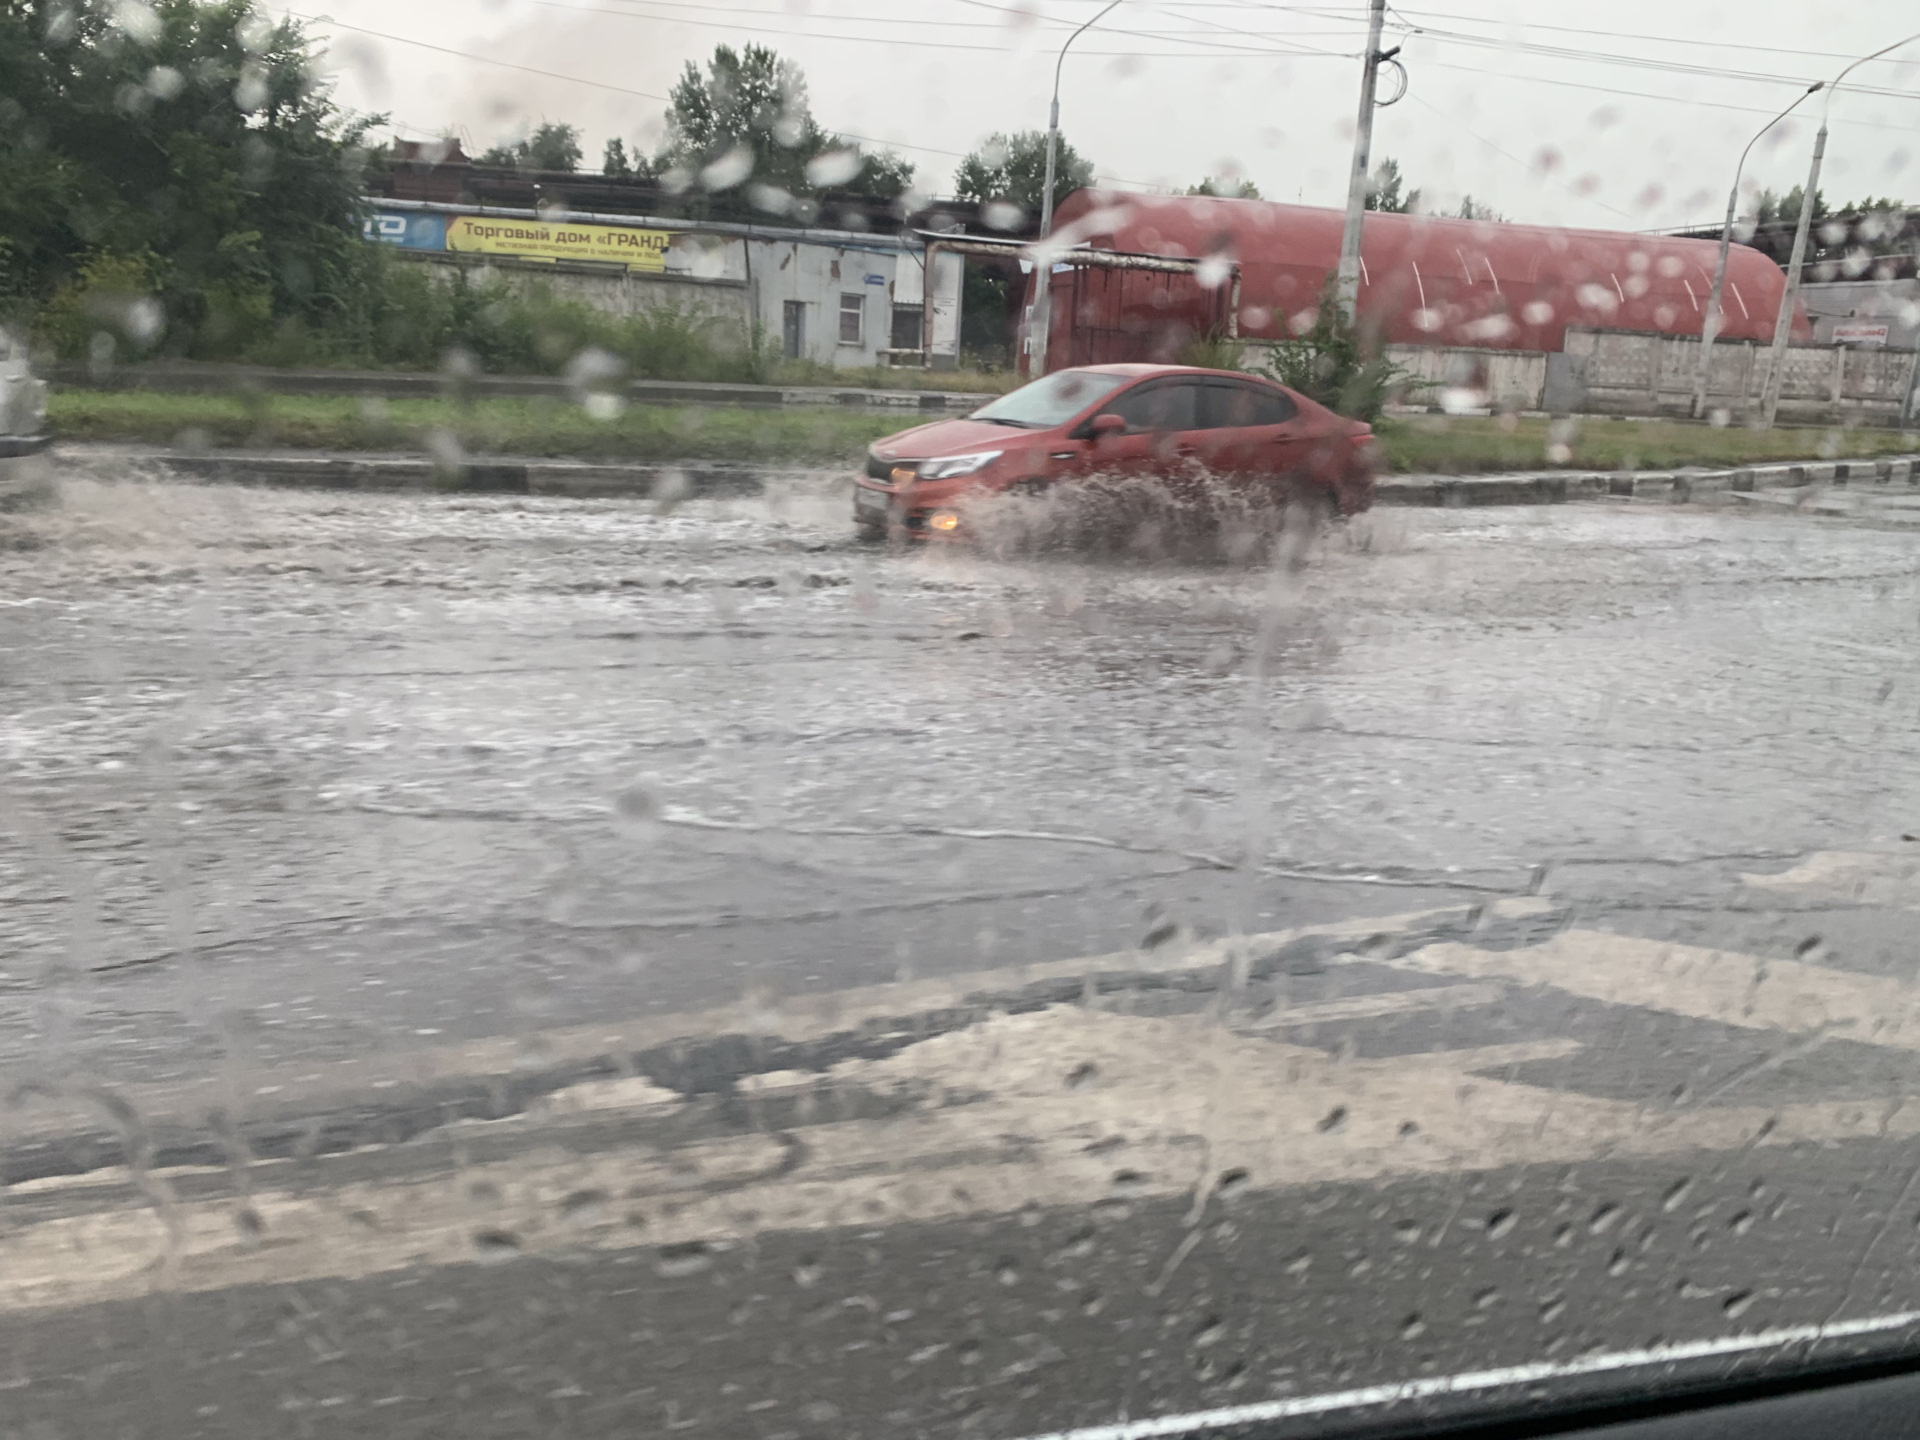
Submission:
[[[874,440],[918,424],[912,413],[628,405],[595,420],[561,399],[365,401],[349,396],[169,396],[60,390],[48,403],[69,440],[296,449],[422,449],[436,430],[476,455],[570,459],[733,459],[852,463]],[[1555,430],[1553,424],[1561,428]],[[1920,449],[1895,430],[1716,430],[1678,420],[1567,422],[1496,417],[1413,417],[1377,428],[1394,474],[1549,468],[1548,445],[1571,449],[1569,470],[1732,467],[1755,461],[1855,459]]]

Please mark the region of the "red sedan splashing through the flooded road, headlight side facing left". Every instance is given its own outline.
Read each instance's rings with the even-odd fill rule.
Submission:
[[[852,518],[870,540],[960,538],[970,497],[1092,474],[1175,478],[1196,465],[1275,499],[1325,495],[1342,515],[1373,503],[1373,428],[1359,420],[1256,374],[1085,365],[876,442]]]

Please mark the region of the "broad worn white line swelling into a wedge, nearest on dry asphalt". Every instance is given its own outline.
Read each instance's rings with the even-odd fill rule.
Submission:
[[[1649,1127],[1638,1104],[1501,1073],[1576,1044],[1338,1060],[1208,1016],[1060,1004],[843,1060],[816,1079],[826,1094],[858,1087],[910,1104],[795,1137],[756,1131],[670,1150],[566,1154],[547,1121],[528,1116],[497,1123],[518,1125],[530,1146],[453,1173],[420,1173],[403,1160],[397,1173],[369,1173],[365,1160],[315,1162],[313,1177],[286,1188],[263,1169],[246,1198],[17,1223],[0,1233],[0,1313],[472,1263],[476,1236],[497,1233],[526,1254],[739,1244],[1073,1208],[1102,1194],[1190,1198],[1208,1171],[1229,1165],[1252,1190],[1284,1190],[1920,1133],[1920,1104],[1853,1100],[1709,1108]],[[684,1104],[657,1100],[645,1081],[591,1081],[586,1091],[555,1094],[549,1114]]]

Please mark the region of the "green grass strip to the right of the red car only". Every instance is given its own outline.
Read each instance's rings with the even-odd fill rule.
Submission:
[[[1868,459],[1920,449],[1920,436],[1899,430],[1745,430],[1682,420],[1617,420],[1605,415],[1584,415],[1572,422],[1421,415],[1384,419],[1373,428],[1396,474],[1668,470],[1682,465],[1728,468],[1761,461]],[[1569,457],[1549,459],[1548,445],[1555,440],[1567,445]]]

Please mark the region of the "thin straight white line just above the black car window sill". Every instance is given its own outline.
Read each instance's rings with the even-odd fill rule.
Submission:
[[[1523,1384],[1540,1384],[1542,1380],[1572,1380],[1582,1375],[1613,1375],[1619,1371],[1647,1369],[1653,1365],[1674,1365],[1688,1359],[1743,1356],[1755,1350],[1782,1350],[1786,1346],[1816,1344],[1820,1340],[1847,1340],[1860,1334],[1903,1331],[1912,1325],[1920,1325],[1920,1309],[1903,1309],[1891,1315],[1870,1315],[1853,1321],[1832,1321],[1828,1325],[1782,1325],[1778,1329],[1757,1331],[1753,1334],[1726,1334],[1713,1340],[1682,1340],[1678,1344],[1651,1346],[1647,1350],[1613,1350],[1599,1356],[1582,1356],[1578,1359],[1542,1359],[1532,1365],[1505,1365],[1501,1369],[1434,1375],[1419,1380],[1367,1384],[1357,1390],[1332,1390],[1319,1396],[1294,1396],[1288,1400],[1261,1400],[1250,1405],[1196,1409],[1188,1415],[1158,1415],[1146,1421],[1089,1425],[1079,1430],[1050,1430],[1046,1434],[1025,1436],[1023,1440],[1160,1440],[1164,1436],[1196,1434],[1235,1425],[1263,1425],[1269,1421],[1290,1421],[1304,1415],[1329,1415],[1342,1409],[1367,1409],[1373,1405],[1404,1405],[1413,1400],[1436,1400],[1442,1396],[1476,1394],[1482,1390],[1507,1390]]]

